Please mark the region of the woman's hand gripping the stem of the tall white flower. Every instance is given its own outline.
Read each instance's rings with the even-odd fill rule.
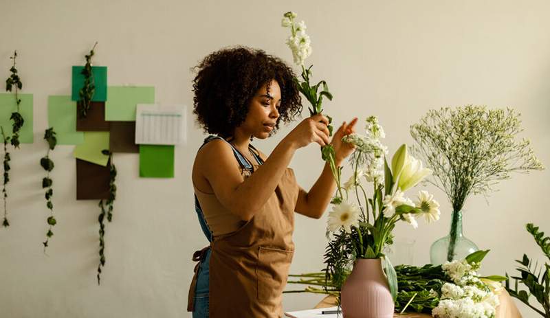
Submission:
[[[330,142],[328,125],[329,120],[320,113],[307,117],[285,137],[285,140],[296,149],[312,142],[325,146]]]

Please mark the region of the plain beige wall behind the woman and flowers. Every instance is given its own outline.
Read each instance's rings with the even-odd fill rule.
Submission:
[[[154,85],[157,102],[190,106],[189,68],[215,49],[249,45],[290,61],[280,23],[281,14],[293,10],[307,22],[314,49],[308,61],[315,65],[314,78],[329,82],[335,98],[326,110],[337,123],[379,116],[393,152],[410,143],[408,127],[428,109],[512,106],[523,114],[525,136],[550,165],[548,1],[186,2],[1,1],[0,76],[8,77],[8,57],[18,49],[35,119],[34,144],[12,152],[12,226],[0,229],[2,317],[190,317],[190,258],[206,244],[190,183],[204,135],[192,122],[188,144],[176,148],[175,179],[140,179],[137,155],[115,155],[118,198],[105,235],[101,286],[97,203],[75,200],[72,146],[58,146],[52,153],[58,225],[43,254],[48,213],[39,159],[46,151],[47,96],[69,94],[71,66],[83,64],[94,41],[95,65],[109,67],[109,84]],[[293,126],[255,145],[270,152]],[[320,173],[319,157],[318,147],[309,146],[292,161],[304,188]],[[498,186],[490,205],[483,197],[467,202],[465,234],[492,249],[484,273],[513,272],[523,253],[540,258],[524,225],[534,222],[550,233],[549,173],[514,175]],[[448,231],[449,205],[433,192],[442,203],[441,221],[421,222],[416,231],[397,228],[398,239],[415,238],[415,264],[428,262],[431,242]],[[322,269],[325,221],[297,216],[292,273]],[[285,309],[309,308],[319,299],[285,296]],[[525,306],[520,310],[536,317]]]

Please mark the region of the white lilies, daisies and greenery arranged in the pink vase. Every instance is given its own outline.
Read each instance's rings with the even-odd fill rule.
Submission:
[[[343,186],[337,180],[338,190],[331,201],[333,209],[327,227],[327,236],[332,234],[333,239],[325,254],[325,272],[327,277],[336,277],[343,283],[356,259],[383,258],[395,299],[397,280],[391,262],[383,253],[384,247],[393,242],[392,231],[399,220],[415,228],[418,216],[424,216],[428,223],[438,220],[439,203],[426,191],[420,191],[416,201],[406,197],[405,192],[430,174],[430,170],[408,154],[406,145],[395,152],[390,168],[386,161],[388,150],[380,141],[385,137],[384,129],[377,117],[366,119],[365,130],[366,135],[352,134],[342,139],[355,145],[350,159],[353,175]],[[367,198],[362,179],[373,183],[371,198]],[[341,284],[338,285],[340,288]]]

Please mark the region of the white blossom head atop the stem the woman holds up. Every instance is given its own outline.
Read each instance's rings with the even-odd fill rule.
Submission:
[[[287,45],[292,50],[294,63],[298,66],[303,66],[305,59],[311,55],[311,40],[305,33],[307,29],[305,22],[294,23],[296,16],[297,14],[294,12],[285,13],[281,25],[283,27],[290,27],[292,34],[287,38]]]

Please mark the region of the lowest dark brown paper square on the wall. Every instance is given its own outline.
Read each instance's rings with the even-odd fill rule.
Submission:
[[[109,198],[109,165],[76,159],[76,200]]]

